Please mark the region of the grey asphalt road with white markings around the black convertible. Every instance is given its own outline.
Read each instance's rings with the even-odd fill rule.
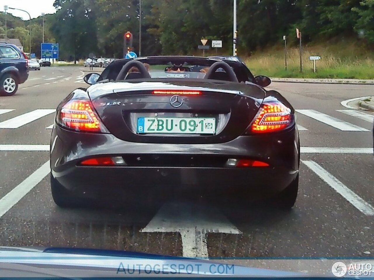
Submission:
[[[82,83],[84,70],[42,68],[30,72],[15,96],[0,97],[0,246],[209,257],[374,255],[373,113],[340,104],[372,95],[373,85],[269,87],[298,110],[303,129],[300,192],[290,212],[261,203],[220,209],[179,199],[159,208],[60,209],[52,201],[49,169],[43,165],[49,160],[47,127],[58,103],[74,88],[88,86]],[[353,116],[352,111],[364,114]],[[277,183],[276,178],[264,180]]]

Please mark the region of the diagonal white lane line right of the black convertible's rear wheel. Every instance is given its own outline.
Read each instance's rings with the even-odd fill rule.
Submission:
[[[346,185],[341,183],[337,178],[327,172],[314,161],[302,161],[309,167],[319,178],[324,180],[332,189],[344,197],[348,202],[355,206],[359,211],[367,216],[374,216],[374,207],[359,197],[355,192],[350,190]]]

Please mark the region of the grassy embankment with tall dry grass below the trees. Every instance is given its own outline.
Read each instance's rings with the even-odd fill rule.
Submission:
[[[320,56],[313,72],[313,61],[309,56]],[[338,78],[374,79],[374,53],[356,43],[317,44],[303,47],[303,72],[300,72],[298,48],[287,51],[287,71],[285,54],[281,49],[257,52],[245,58],[246,65],[255,75],[279,78]]]

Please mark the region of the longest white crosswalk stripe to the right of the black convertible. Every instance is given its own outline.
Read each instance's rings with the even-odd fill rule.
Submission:
[[[312,119],[323,122],[342,131],[370,131],[366,128],[359,127],[349,122],[341,121],[340,119],[326,115],[315,110],[296,110],[296,112],[309,116]]]

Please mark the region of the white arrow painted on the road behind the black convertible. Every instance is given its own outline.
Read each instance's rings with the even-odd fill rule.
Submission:
[[[208,258],[206,233],[242,233],[217,208],[180,202],[163,205],[140,232],[179,232],[183,256],[202,258]]]

